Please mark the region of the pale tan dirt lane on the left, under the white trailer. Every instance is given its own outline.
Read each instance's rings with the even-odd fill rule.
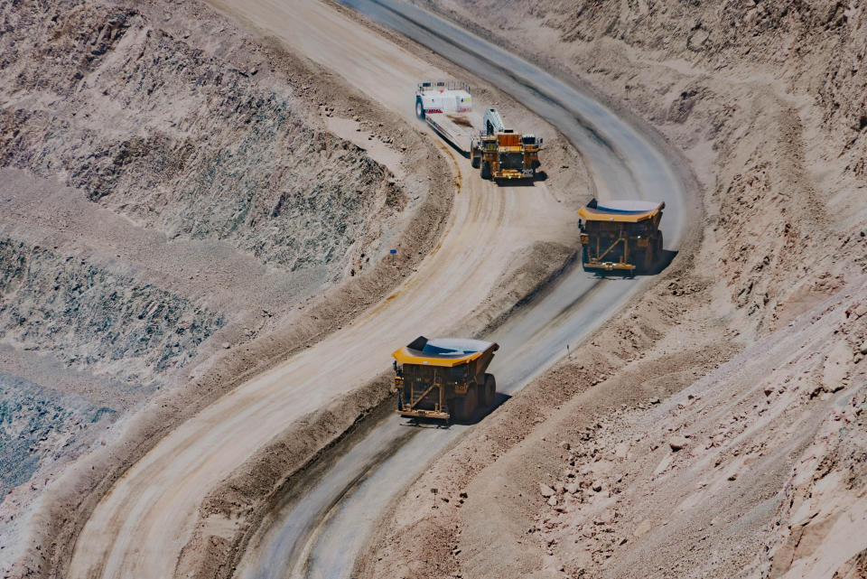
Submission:
[[[445,76],[323,5],[247,7],[266,33],[407,117],[418,79]],[[466,173],[464,186],[441,246],[417,273],[349,327],[250,380],[157,444],[100,501],[65,576],[171,577],[203,497],[257,449],[387,369],[395,344],[420,329],[445,332],[485,300],[515,252],[537,240],[574,242],[574,215],[544,184],[498,188],[480,181],[468,161],[456,163],[456,172]]]

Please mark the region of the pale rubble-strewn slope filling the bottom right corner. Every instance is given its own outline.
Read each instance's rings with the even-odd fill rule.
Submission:
[[[854,313],[864,290],[856,282],[848,298],[828,299],[661,404],[651,398],[581,430],[564,421],[564,467],[542,485],[548,509],[531,528],[543,568],[852,573],[850,559],[867,547],[854,537],[867,520],[858,363],[867,325]]]

